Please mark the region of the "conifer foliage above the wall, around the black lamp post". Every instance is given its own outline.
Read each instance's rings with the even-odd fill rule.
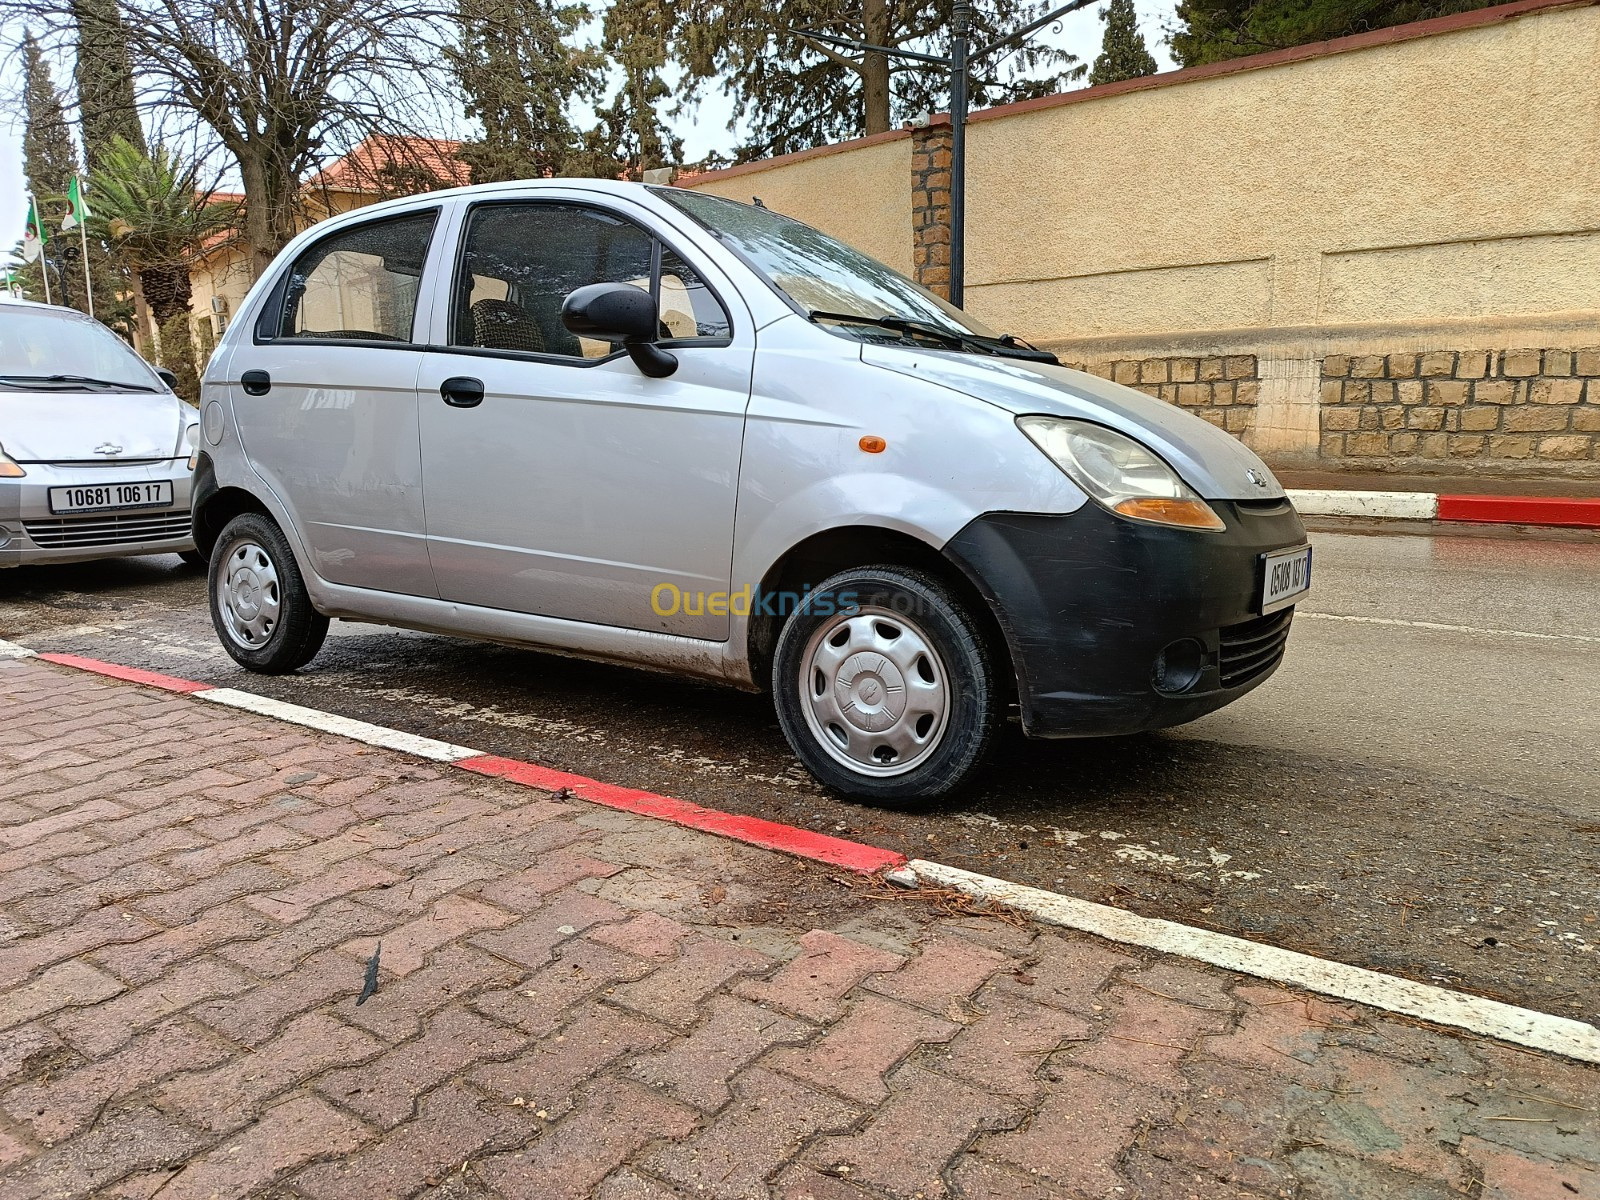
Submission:
[[[984,43],[1043,16],[1046,3],[974,0],[974,42]],[[888,130],[917,112],[949,106],[949,72],[883,54],[846,54],[800,29],[923,53],[950,45],[952,0],[688,0],[677,58],[699,91],[718,85],[734,98],[734,125],[747,122],[741,160]],[[1030,38],[1021,50],[976,64],[973,107],[1059,91],[1083,67],[1066,51]]]

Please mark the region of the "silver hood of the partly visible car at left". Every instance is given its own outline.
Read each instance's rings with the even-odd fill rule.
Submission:
[[[0,446],[18,462],[178,458],[194,421],[194,410],[171,392],[0,390]],[[94,453],[106,445],[122,453]]]

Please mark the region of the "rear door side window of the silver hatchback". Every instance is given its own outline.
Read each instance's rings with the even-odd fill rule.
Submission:
[[[323,238],[290,267],[274,336],[410,342],[437,211]]]

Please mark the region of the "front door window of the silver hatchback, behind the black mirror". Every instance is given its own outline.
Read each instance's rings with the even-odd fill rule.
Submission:
[[[576,205],[485,205],[462,242],[454,346],[603,358],[618,347],[562,325],[562,301],[587,283],[656,291],[662,338],[725,338],[728,317],[704,282],[638,226]],[[704,331],[702,330],[714,330]]]

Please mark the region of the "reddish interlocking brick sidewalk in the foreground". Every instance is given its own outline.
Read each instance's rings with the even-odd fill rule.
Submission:
[[[40,662],[0,771],[3,1200],[1600,1197],[1592,1067]]]

